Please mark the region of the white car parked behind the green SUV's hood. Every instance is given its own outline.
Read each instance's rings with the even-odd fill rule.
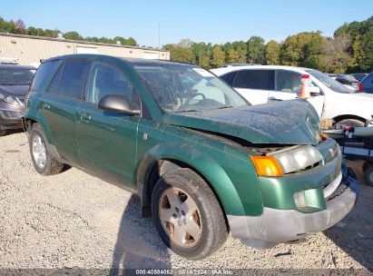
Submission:
[[[247,65],[212,69],[235,88],[250,104],[292,100],[299,97],[300,77],[309,74],[308,99],[321,119],[334,123],[362,125],[373,115],[373,98],[351,94],[343,84],[317,70],[280,65]]]

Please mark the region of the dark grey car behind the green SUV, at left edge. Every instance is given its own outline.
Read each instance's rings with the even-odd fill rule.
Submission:
[[[35,72],[33,66],[0,64],[0,136],[23,127],[25,94]]]

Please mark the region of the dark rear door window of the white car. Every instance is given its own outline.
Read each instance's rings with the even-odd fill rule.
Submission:
[[[273,90],[272,70],[242,70],[237,73],[233,87]]]

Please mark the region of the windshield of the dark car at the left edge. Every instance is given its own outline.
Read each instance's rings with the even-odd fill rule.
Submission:
[[[1,68],[0,84],[2,85],[28,85],[33,80],[36,69],[27,68]]]

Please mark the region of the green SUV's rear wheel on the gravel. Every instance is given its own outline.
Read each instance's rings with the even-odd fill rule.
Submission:
[[[61,173],[64,163],[58,162],[48,151],[48,142],[44,130],[38,123],[34,123],[29,135],[31,159],[35,170],[43,175]]]

